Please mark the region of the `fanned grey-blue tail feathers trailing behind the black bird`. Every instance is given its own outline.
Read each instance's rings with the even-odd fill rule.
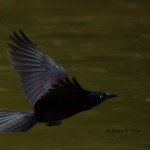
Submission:
[[[33,111],[0,110],[0,132],[25,132],[37,123]]]

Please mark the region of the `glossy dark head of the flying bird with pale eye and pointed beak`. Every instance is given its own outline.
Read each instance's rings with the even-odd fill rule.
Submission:
[[[88,104],[87,104],[87,109],[90,109],[96,105],[99,105],[104,100],[107,100],[107,99],[110,99],[113,97],[117,97],[117,95],[105,93],[105,92],[101,92],[101,91],[96,91],[96,90],[91,90],[91,91],[89,91],[89,94],[87,95],[88,104],[89,104],[89,108],[88,108]]]

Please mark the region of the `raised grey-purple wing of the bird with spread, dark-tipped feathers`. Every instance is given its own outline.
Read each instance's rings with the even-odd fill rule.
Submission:
[[[21,77],[21,85],[25,95],[34,105],[52,84],[67,77],[65,70],[42,52],[29,38],[19,30],[9,38],[13,44],[7,43],[10,48],[11,61],[14,69]]]

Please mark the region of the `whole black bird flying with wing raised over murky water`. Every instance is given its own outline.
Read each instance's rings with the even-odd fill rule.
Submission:
[[[19,30],[7,43],[13,68],[21,77],[24,94],[32,104],[27,111],[0,110],[0,132],[24,132],[36,123],[60,125],[63,119],[91,109],[116,95],[83,89],[75,77],[48,57]]]

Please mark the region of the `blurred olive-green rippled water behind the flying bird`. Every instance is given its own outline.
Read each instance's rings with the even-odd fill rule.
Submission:
[[[58,127],[0,134],[1,150],[150,149],[149,0],[0,0],[1,109],[30,108],[5,45],[19,28],[84,88],[119,97]]]

